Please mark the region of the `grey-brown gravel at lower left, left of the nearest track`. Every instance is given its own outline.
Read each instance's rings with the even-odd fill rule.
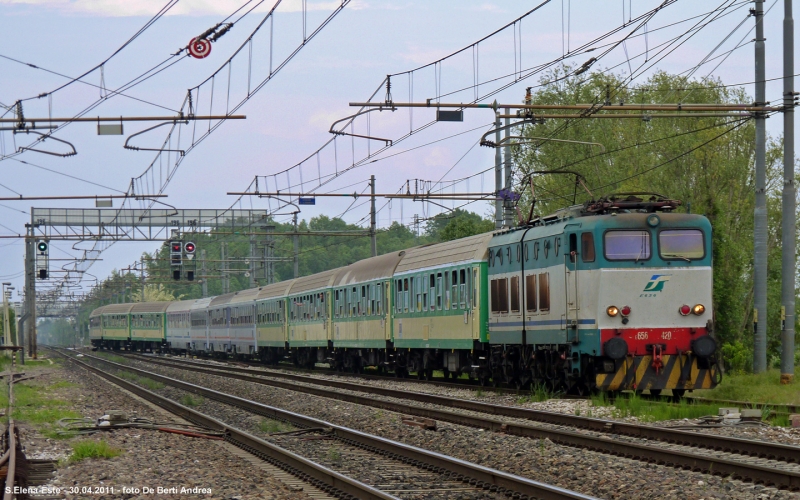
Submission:
[[[174,421],[173,417],[140,402],[87,374],[70,363],[64,368],[40,375],[35,383],[50,385],[69,382],[58,390],[58,398],[68,402],[66,409],[97,418],[109,409],[125,411],[158,422]],[[62,384],[65,385],[65,384]],[[55,476],[47,486],[60,488],[62,494],[71,487],[111,487],[115,494],[65,494],[64,498],[225,498],[225,499],[292,499],[309,498],[293,491],[275,477],[251,462],[229,451],[219,441],[195,439],[148,429],[119,429],[72,439],[50,439],[32,425],[21,425],[20,437],[28,458],[60,460]],[[71,444],[82,440],[105,440],[111,447],[123,450],[112,459],[87,459],[70,462]],[[177,493],[123,494],[123,486],[140,488],[177,488]],[[181,494],[180,489],[207,488],[210,494]]]

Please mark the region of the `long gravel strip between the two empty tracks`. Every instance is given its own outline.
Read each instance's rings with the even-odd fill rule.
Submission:
[[[139,361],[131,365],[602,498],[800,499],[792,492],[579,450],[547,439],[446,422],[440,422],[435,432],[426,431],[403,425],[399,414],[385,410]]]

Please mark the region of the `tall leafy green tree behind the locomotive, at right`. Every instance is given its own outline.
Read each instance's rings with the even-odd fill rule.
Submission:
[[[623,84],[610,73],[565,77],[560,68],[546,75],[533,95],[537,104],[751,103],[741,88],[719,80],[691,80],[656,73],[640,86]],[[548,111],[549,113],[550,111]],[[554,111],[557,112],[557,111]],[[568,111],[565,113],[573,113]],[[598,111],[602,113],[602,111]],[[634,112],[640,113],[640,112]],[[517,182],[525,186],[520,209],[546,215],[573,202],[623,192],[656,192],[683,201],[681,211],[703,214],[713,227],[716,335],[727,345],[730,369],[751,369],[753,320],[754,124],[740,118],[658,118],[548,120],[525,126],[529,143],[515,147]],[[559,139],[592,144],[542,141]],[[599,144],[599,145],[598,145]],[[770,138],[768,178],[768,350],[780,350],[780,192],[782,144]],[[576,190],[574,175],[531,175],[533,171],[579,173],[591,195]],[[750,353],[748,355],[748,353]],[[749,356],[749,357],[748,357]]]

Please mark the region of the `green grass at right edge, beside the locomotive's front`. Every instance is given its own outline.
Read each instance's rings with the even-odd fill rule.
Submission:
[[[800,374],[795,370],[795,382],[781,385],[780,370],[726,375],[714,389],[694,391],[692,396],[708,399],[728,399],[767,404],[800,404]]]

